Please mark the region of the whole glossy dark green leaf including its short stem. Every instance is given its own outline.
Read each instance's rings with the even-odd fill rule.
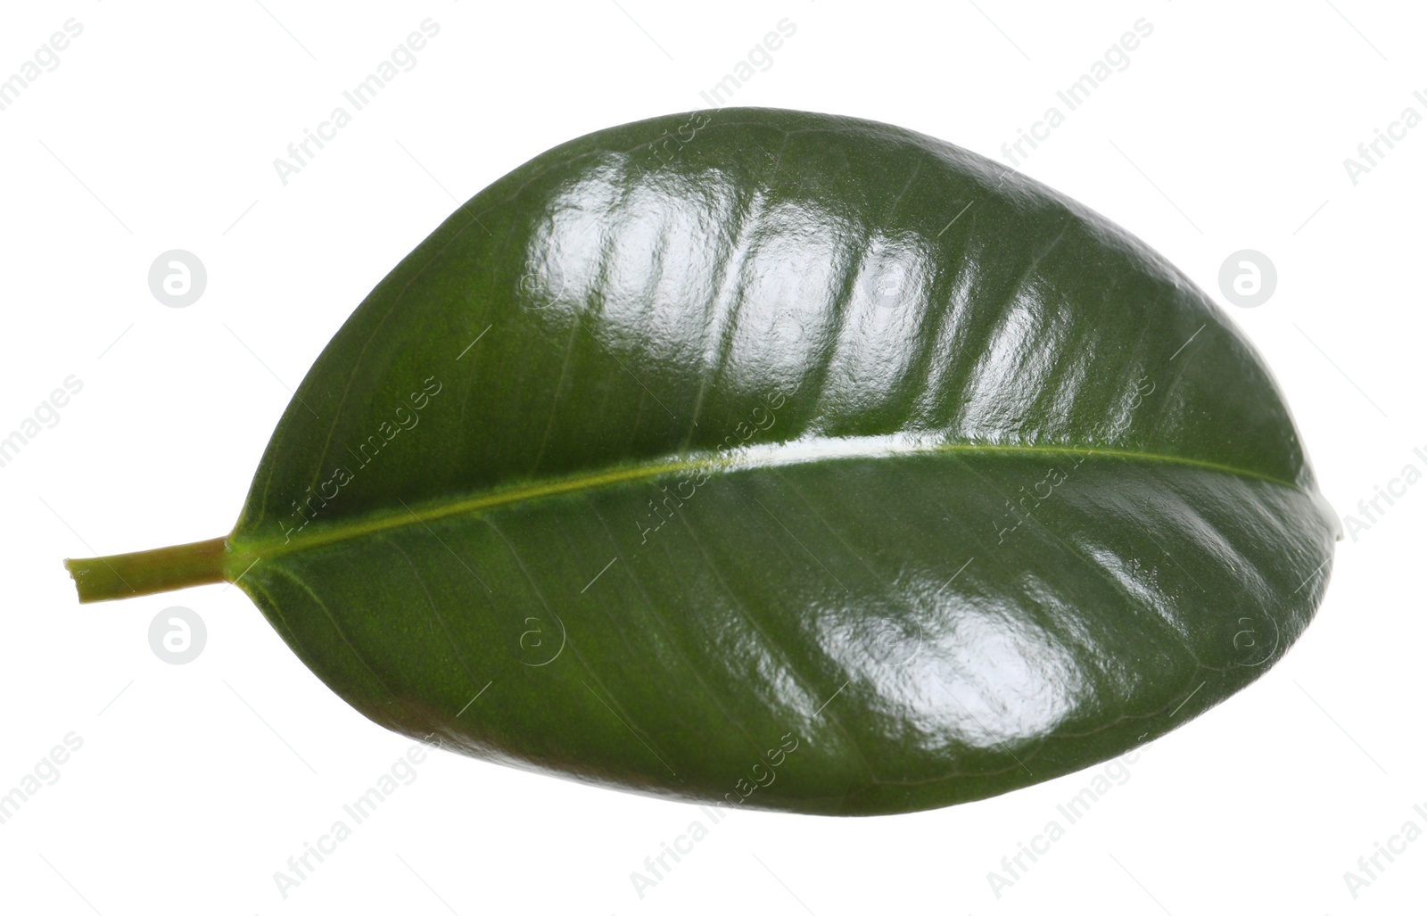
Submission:
[[[323,351],[225,544],[70,565],[237,579],[472,756],[876,815],[1223,701],[1336,536],[1259,355],[1143,243],[922,134],[725,108],[477,194]]]

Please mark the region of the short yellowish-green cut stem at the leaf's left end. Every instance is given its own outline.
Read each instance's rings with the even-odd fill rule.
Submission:
[[[153,551],[66,559],[80,604],[171,592],[190,585],[224,582],[228,538],[176,544]]]

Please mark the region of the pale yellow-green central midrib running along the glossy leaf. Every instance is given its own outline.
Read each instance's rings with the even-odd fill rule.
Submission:
[[[866,437],[868,439],[886,441],[892,437]],[[569,477],[558,478],[554,481],[542,481],[537,484],[524,482],[507,488],[498,488],[487,491],[478,495],[461,497],[451,502],[442,504],[424,504],[412,507],[405,512],[391,511],[381,514],[378,516],[355,516],[345,518],[335,522],[327,522],[321,525],[317,531],[307,536],[298,536],[297,541],[278,542],[275,538],[258,538],[253,541],[244,541],[228,536],[230,546],[230,562],[244,561],[251,558],[273,558],[285,554],[295,554],[298,551],[327,546],[330,544],[337,544],[341,541],[350,541],[352,538],[360,538],[364,535],[380,534],[391,531],[395,528],[405,528],[410,525],[424,525],[427,522],[450,518],[452,515],[465,515],[468,512],[479,512],[482,509],[489,509],[502,505],[519,504],[519,502],[534,502],[538,499],[545,499],[549,497],[559,497],[571,492],[581,492],[589,489],[598,489],[602,487],[615,487],[619,484],[628,484],[631,481],[649,479],[656,477],[664,477],[666,474],[678,474],[681,471],[722,471],[725,474],[732,474],[738,471],[756,471],[761,468],[783,467],[793,464],[813,464],[822,461],[843,461],[849,458],[899,458],[909,455],[925,455],[936,452],[948,454],[973,454],[973,455],[996,455],[996,457],[1077,457],[1077,458],[1106,458],[1113,461],[1143,461],[1150,464],[1166,464],[1177,465],[1186,468],[1197,468],[1202,471],[1214,471],[1217,474],[1229,474],[1232,477],[1259,479],[1269,484],[1276,484],[1279,487],[1286,487],[1293,491],[1301,492],[1297,484],[1290,481],[1283,481],[1269,474],[1260,474],[1257,471],[1250,471],[1247,468],[1236,468],[1233,465],[1219,464],[1214,461],[1203,461],[1200,458],[1184,458],[1182,455],[1164,455],[1159,452],[1143,452],[1134,449],[1123,448],[1103,448],[1103,447],[1075,447],[1075,445],[1006,445],[1006,444],[990,444],[990,442],[939,442],[933,445],[910,444],[902,445],[900,448],[893,448],[890,445],[880,445],[876,448],[866,448],[863,451],[853,451],[849,454],[828,455],[819,454],[818,447],[832,447],[836,444],[849,444],[849,439],[798,439],[792,442],[781,442],[772,448],[749,448],[739,452],[723,451],[723,452],[706,452],[704,455],[695,455],[682,459],[658,459],[645,464],[636,464],[632,467],[622,467],[612,471],[604,471],[599,474],[574,474]],[[806,457],[798,457],[795,452],[802,451]],[[759,459],[759,455],[768,455],[766,459]]]

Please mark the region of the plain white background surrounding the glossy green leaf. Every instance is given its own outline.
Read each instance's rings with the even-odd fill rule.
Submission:
[[[514,7],[521,9],[514,9]],[[699,97],[786,17],[732,97],[888,121],[1000,157],[1139,19],[1153,34],[1022,171],[1140,235],[1223,302],[1279,378],[1343,514],[1427,469],[1427,126],[1354,184],[1343,160],[1427,116],[1427,14],[1303,3],[6,4],[0,77],[83,34],[0,111],[0,435],[83,392],[0,468],[0,792],[83,748],[0,825],[0,909],[29,913],[1406,913],[1427,838],[1354,899],[1344,872],[1427,826],[1427,484],[1339,545],[1307,633],[1149,745],[997,899],[987,872],[1095,770],[935,812],[735,812],[644,899],[629,873],[694,806],[432,753],[284,900],[273,873],[410,746],[348,708],[237,588],[80,606],[64,556],[221,535],[313,360],[454,207],[591,130]],[[684,4],[681,4],[684,6]],[[440,34],[287,185],[273,160],[432,19]],[[1383,147],[1386,150],[1386,147]],[[1003,160],[1005,161],[1005,160]],[[147,271],[195,253],[204,295]],[[1279,287],[1239,308],[1224,258]],[[1386,502],[1380,504],[1386,507]],[[1366,521],[1366,519],[1364,519]],[[193,608],[191,663],[150,621]],[[1096,769],[1103,769],[1096,768]],[[1062,819],[1063,822],[1063,819]],[[1386,863],[1386,859],[1381,859]],[[1411,910],[1420,912],[1420,910]]]

